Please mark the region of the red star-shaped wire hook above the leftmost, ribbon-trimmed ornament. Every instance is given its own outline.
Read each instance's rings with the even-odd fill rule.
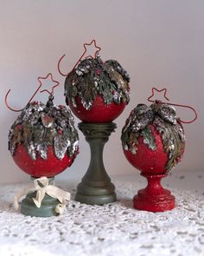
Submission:
[[[28,104],[33,100],[33,98],[35,97],[35,95],[38,93],[39,89],[41,89],[41,85],[42,85],[41,80],[46,80],[49,75],[50,75],[50,77],[51,77],[52,82],[55,82],[54,86],[52,87],[52,91],[49,92],[48,89],[43,89],[43,90],[41,90],[41,93],[42,93],[42,92],[47,92],[49,95],[54,95],[54,88],[56,88],[57,86],[59,86],[60,82],[55,81],[55,80],[53,79],[53,75],[52,75],[51,73],[48,73],[48,75],[46,75],[45,77],[39,76],[39,77],[37,78],[37,80],[38,80],[38,82],[40,83],[40,85],[39,85],[38,88],[35,90],[35,93],[34,93],[34,95],[32,95],[32,97],[30,98]],[[9,94],[10,94],[10,89],[8,90],[7,94],[5,95],[5,104],[6,104],[6,107],[9,108],[11,111],[14,111],[14,112],[20,112],[20,111],[22,111],[22,109],[18,109],[18,110],[17,110],[17,109],[11,108],[11,107],[9,106],[9,104],[8,104],[8,95],[9,95]]]

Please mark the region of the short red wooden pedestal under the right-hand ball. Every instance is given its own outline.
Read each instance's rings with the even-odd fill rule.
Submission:
[[[174,209],[175,197],[161,185],[162,178],[166,177],[167,174],[141,173],[141,175],[147,179],[148,185],[134,196],[134,207],[150,212],[165,212]]]

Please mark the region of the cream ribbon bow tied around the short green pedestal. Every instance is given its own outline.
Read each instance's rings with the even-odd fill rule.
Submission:
[[[16,209],[19,209],[19,200],[22,198],[22,196],[35,191],[37,193],[36,197],[33,198],[33,200],[36,207],[41,207],[41,201],[45,197],[45,194],[48,194],[52,198],[55,198],[61,202],[55,207],[55,212],[59,214],[64,212],[66,208],[66,200],[70,200],[70,193],[62,190],[59,187],[55,187],[54,185],[49,185],[48,178],[43,176],[39,179],[34,180],[34,187],[24,188],[20,193],[16,194],[14,198],[14,207]]]

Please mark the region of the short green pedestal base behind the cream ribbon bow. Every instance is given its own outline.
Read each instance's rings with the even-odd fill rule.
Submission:
[[[33,178],[32,178],[33,180]],[[54,178],[49,179],[49,184],[53,184]],[[55,207],[59,205],[60,201],[50,197],[48,194],[45,195],[41,201],[41,207],[35,206],[33,198],[35,198],[36,192],[29,193],[21,202],[21,213],[35,217],[50,217],[56,216]]]

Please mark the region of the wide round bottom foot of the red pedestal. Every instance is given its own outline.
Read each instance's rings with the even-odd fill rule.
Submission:
[[[133,199],[134,207],[149,212],[165,212],[175,208],[175,197],[167,189],[163,194],[147,194],[145,189],[138,191]]]

